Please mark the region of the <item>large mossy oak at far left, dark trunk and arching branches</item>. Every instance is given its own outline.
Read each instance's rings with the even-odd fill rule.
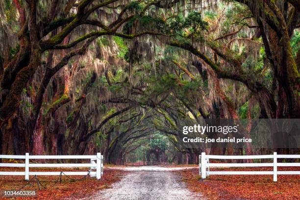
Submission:
[[[102,2],[83,0],[79,3],[74,0],[68,2],[50,1],[44,2],[46,4],[45,7],[49,8],[46,10],[46,13],[43,12],[45,8],[40,5],[41,2],[37,0],[14,0],[13,2],[7,1],[6,3],[14,3],[20,15],[18,32],[20,47],[11,61],[6,62],[7,64],[4,66],[3,74],[1,75],[1,90],[3,92],[1,93],[0,104],[0,127],[5,125],[18,109],[24,88],[41,67],[43,55],[50,51],[47,56],[46,72],[42,79],[42,84],[37,89],[36,97],[34,97],[32,119],[30,120],[30,135],[35,131],[43,95],[50,78],[64,67],[72,57],[84,54],[93,39],[102,35],[118,35],[125,38],[134,38],[147,33],[153,34],[152,32],[139,32],[125,35],[118,32],[120,26],[134,17],[135,7],[141,3],[139,1],[125,4],[118,0]],[[140,14],[145,13],[148,7],[155,5],[162,6],[160,1],[150,1],[144,5],[145,9]],[[122,8],[119,9],[119,7]],[[93,14],[97,15],[97,12],[106,13],[107,11],[114,12],[114,10],[118,14],[111,17],[107,13],[107,18],[103,21],[99,21],[97,17],[95,19],[92,16]],[[99,31],[91,31],[75,37],[73,41],[69,41],[72,33],[78,29],[77,27],[85,25],[96,26]],[[69,51],[54,67],[51,67],[51,51],[64,51],[77,46],[78,43],[83,41],[86,42],[81,47]],[[64,102],[67,99],[68,97],[65,95],[58,98],[59,101]],[[54,103],[57,105],[61,102],[54,101]]]

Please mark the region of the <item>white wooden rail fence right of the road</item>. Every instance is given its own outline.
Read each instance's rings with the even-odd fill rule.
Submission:
[[[206,175],[300,175],[300,171],[277,171],[277,167],[300,167],[300,163],[278,163],[277,158],[300,158],[300,155],[206,155],[199,156],[199,172],[201,178]],[[209,163],[209,159],[273,159],[270,163]],[[209,167],[273,167],[273,171],[210,171]]]

